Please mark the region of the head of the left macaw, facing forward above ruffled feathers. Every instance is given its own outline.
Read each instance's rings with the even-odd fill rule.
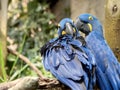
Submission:
[[[58,24],[58,35],[69,34],[72,36],[79,35],[78,30],[76,29],[73,20],[70,18],[64,18]]]

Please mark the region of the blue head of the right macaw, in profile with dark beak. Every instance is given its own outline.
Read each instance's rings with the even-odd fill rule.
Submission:
[[[88,35],[93,30],[98,30],[99,28],[102,28],[99,20],[91,14],[81,14],[77,17],[74,24],[76,28],[85,33],[85,35]]]

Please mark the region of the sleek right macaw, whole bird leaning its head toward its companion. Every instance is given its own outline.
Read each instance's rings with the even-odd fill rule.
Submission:
[[[120,63],[108,46],[99,20],[91,14],[81,14],[75,21],[78,30],[85,33],[87,47],[96,60],[96,82],[101,90],[120,90]]]

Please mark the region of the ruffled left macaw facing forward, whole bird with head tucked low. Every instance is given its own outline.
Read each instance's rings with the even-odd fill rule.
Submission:
[[[93,89],[95,58],[81,42],[80,34],[69,18],[59,23],[58,37],[41,48],[43,64],[60,82],[72,90]]]

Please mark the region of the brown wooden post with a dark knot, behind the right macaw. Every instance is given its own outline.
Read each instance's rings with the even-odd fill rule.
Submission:
[[[107,0],[105,5],[105,37],[120,60],[120,1]]]

